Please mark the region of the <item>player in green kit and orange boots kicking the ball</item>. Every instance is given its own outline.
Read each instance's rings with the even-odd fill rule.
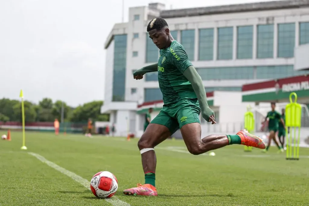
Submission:
[[[124,190],[124,194],[158,195],[155,187],[154,147],[178,129],[181,131],[188,151],[194,155],[232,144],[265,149],[262,139],[245,130],[239,131],[236,135],[212,134],[201,139],[200,113],[207,122],[216,124],[216,121],[214,111],[207,104],[206,92],[200,75],[189,61],[184,47],[171,36],[164,19],[152,19],[148,23],[147,32],[153,43],[160,49],[159,60],[156,64],[138,69],[133,73],[133,78],[142,79],[147,72],[158,71],[164,105],[138,141],[145,184],[138,183],[137,187]]]

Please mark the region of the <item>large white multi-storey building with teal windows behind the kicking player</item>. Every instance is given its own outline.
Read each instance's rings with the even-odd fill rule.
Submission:
[[[223,108],[228,103],[216,103],[217,91],[226,95],[230,91],[234,97],[229,98],[237,99],[243,84],[309,73],[294,70],[294,48],[309,43],[309,0],[180,10],[164,10],[160,3],[133,7],[129,22],[115,24],[105,43],[101,112],[111,114],[117,135],[129,130],[139,136],[145,117],[142,112],[137,114],[142,107],[138,105],[162,99],[156,73],[138,81],[132,76],[134,70],[155,63],[159,57],[146,32],[155,17],[167,20],[172,36],[184,45],[201,75],[206,92],[215,91],[212,107],[222,111],[221,122],[226,119],[221,115],[223,110],[230,117],[232,111]]]

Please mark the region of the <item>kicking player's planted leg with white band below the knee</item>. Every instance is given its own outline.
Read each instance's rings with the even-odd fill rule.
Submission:
[[[141,139],[138,141],[138,149],[142,155],[145,184],[142,185],[138,183],[137,187],[124,190],[123,192],[125,195],[158,195],[155,188],[157,159],[154,147],[171,136],[170,130],[174,133],[178,128],[178,123],[162,111],[151,121]]]

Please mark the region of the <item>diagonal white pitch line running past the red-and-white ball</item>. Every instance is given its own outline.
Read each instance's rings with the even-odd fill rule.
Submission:
[[[61,166],[59,166],[59,165],[57,165],[53,162],[48,161],[43,156],[41,156],[37,153],[28,152],[28,154],[36,157],[41,162],[44,162],[45,164],[54,168],[55,170],[58,170],[62,174],[69,176],[70,178],[74,179],[76,182],[80,183],[81,185],[83,185],[84,187],[86,187],[87,189],[90,190],[90,181],[88,181],[87,179],[84,179],[81,176],[78,176],[77,174],[70,172],[69,170],[66,170]],[[108,203],[114,205],[114,206],[131,206],[130,204],[128,204],[128,203],[126,203],[122,200],[119,200],[118,197],[116,197],[115,195],[112,198],[106,198],[104,200],[107,201]]]

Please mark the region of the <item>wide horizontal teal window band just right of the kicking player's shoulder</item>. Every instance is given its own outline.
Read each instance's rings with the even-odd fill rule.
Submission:
[[[202,80],[253,79],[253,67],[197,68]]]

